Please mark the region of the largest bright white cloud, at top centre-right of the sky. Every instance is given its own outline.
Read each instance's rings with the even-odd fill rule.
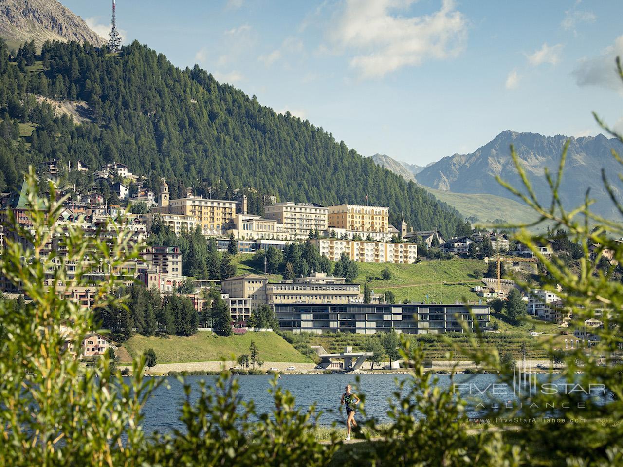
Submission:
[[[383,75],[427,59],[460,54],[467,37],[467,20],[454,1],[442,0],[430,15],[402,16],[414,0],[346,0],[330,37],[354,55],[350,64],[364,77]],[[398,11],[398,12],[396,12]]]

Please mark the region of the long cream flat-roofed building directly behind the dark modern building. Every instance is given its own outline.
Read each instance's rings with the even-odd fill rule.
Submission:
[[[344,277],[327,276],[323,272],[297,277],[294,281],[266,284],[266,298],[270,304],[347,304],[362,301],[359,284],[346,284]]]

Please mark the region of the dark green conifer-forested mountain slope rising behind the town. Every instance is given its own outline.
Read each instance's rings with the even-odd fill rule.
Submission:
[[[392,222],[404,213],[409,225],[436,226],[447,235],[460,221],[457,211],[416,183],[363,158],[323,128],[279,115],[197,66],[178,69],[138,42],[119,54],[48,42],[36,59],[43,70],[17,66],[0,45],[0,185],[14,186],[27,163],[50,157],[81,160],[92,169],[121,161],[148,175],[152,188],[166,177],[171,196],[191,185],[197,193],[216,186],[213,196],[252,187],[280,200],[323,204],[363,204],[368,195],[370,204],[389,206]],[[84,100],[93,123],[55,117],[37,95]],[[30,145],[19,137],[27,133],[25,123],[36,125]]]

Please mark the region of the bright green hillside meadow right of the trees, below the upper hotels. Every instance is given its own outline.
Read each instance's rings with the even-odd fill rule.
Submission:
[[[359,276],[355,282],[369,282],[375,293],[392,291],[396,302],[405,299],[414,302],[478,301],[472,289],[481,284],[480,277],[487,271],[484,261],[478,259],[449,259],[421,261],[417,264],[377,264],[359,262]],[[389,267],[391,279],[384,281],[381,272]],[[426,298],[428,296],[428,299]]]

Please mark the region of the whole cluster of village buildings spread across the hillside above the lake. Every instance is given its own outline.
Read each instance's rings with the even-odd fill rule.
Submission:
[[[71,167],[69,167],[71,170]],[[74,170],[88,171],[81,163]],[[47,161],[38,166],[40,177],[57,181],[59,162]],[[264,207],[264,216],[247,213],[244,195],[239,200],[214,200],[194,196],[189,188],[184,198],[169,199],[168,185],[161,180],[159,193],[143,190],[144,179],[134,175],[121,163],[102,166],[95,171],[95,178],[107,180],[119,200],[126,203],[143,202],[148,213],[128,214],[123,228],[130,229],[132,241],[145,239],[151,225],[160,219],[164,225],[179,235],[199,228],[211,238],[216,238],[219,251],[227,251],[234,242],[237,251],[253,253],[275,248],[284,250],[288,243],[307,241],[315,246],[322,256],[338,261],[342,256],[358,262],[412,264],[417,260],[417,243],[427,248],[437,247],[440,251],[455,255],[467,255],[475,244],[490,241],[496,251],[508,251],[509,241],[503,234],[475,232],[471,236],[444,240],[437,230],[413,231],[407,229],[404,218],[399,228],[389,224],[389,208],[383,206],[335,205],[321,206],[315,203],[276,202],[272,200]],[[117,181],[113,181],[117,180]],[[119,180],[123,180],[119,181]],[[138,186],[130,195],[129,182]],[[6,225],[7,211],[12,211],[18,223],[29,224],[29,207],[24,193],[6,195],[2,201],[2,224]],[[117,218],[123,212],[121,206],[106,206],[97,192],[82,195],[78,200],[67,203],[62,211],[60,224],[75,224],[90,235],[110,235],[109,230],[99,229],[108,218]],[[4,236],[14,235],[0,231],[0,242]],[[24,241],[24,239],[17,239]],[[62,238],[50,240],[49,251],[62,253]],[[48,253],[49,253],[48,251]],[[518,256],[530,256],[530,252],[518,244]],[[543,247],[544,254],[551,253],[549,246]],[[62,255],[61,255],[62,256]],[[188,281],[182,274],[182,255],[178,247],[148,246],[141,258],[127,264],[128,286],[138,281],[148,289],[158,289],[163,294],[181,293]],[[59,266],[60,266],[59,259]],[[71,265],[65,264],[65,267]],[[71,279],[71,272],[69,279]],[[107,277],[110,271],[103,266],[92,278],[93,284]],[[490,279],[494,281],[494,279]],[[498,283],[500,282],[498,278]],[[505,281],[506,285],[508,282]],[[485,303],[466,304],[391,304],[384,301],[382,294],[371,294],[365,302],[359,284],[348,283],[344,277],[328,276],[312,272],[308,277],[296,277],[292,281],[270,283],[266,275],[245,274],[218,281],[197,279],[194,291],[185,294],[193,302],[197,312],[209,306],[206,289],[221,287],[221,297],[226,301],[232,322],[244,327],[252,312],[262,305],[268,305],[275,312],[281,329],[293,332],[356,332],[374,334],[395,329],[409,334],[442,333],[462,331],[462,324],[473,328],[473,320],[481,329],[490,330],[490,297],[497,297],[501,290],[475,287]],[[512,284],[511,284],[512,285]],[[0,275],[0,289],[19,293],[6,277]],[[67,299],[89,306],[95,288],[63,287]],[[563,304],[556,294],[533,291],[526,299],[528,314],[543,320],[561,322],[564,319]],[[470,311],[472,314],[470,314]],[[462,323],[463,322],[463,323]],[[591,324],[593,325],[593,324]],[[586,330],[584,330],[585,334]],[[102,335],[87,336],[83,343],[83,355],[97,355],[110,343]]]

